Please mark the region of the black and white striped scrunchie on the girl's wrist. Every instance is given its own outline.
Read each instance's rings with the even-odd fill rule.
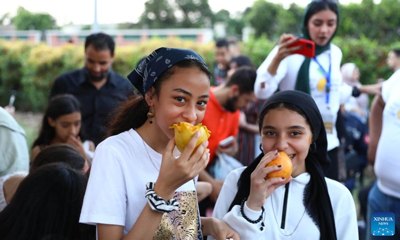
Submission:
[[[173,198],[165,201],[162,197],[157,196],[157,193],[153,190],[154,182],[146,183],[146,194],[145,197],[148,199],[148,204],[153,211],[159,212],[171,212],[178,210],[179,202]]]

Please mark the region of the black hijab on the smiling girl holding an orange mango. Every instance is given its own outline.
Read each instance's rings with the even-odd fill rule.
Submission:
[[[310,180],[305,186],[303,204],[305,209],[320,231],[320,239],[336,240],[336,230],[332,204],[328,194],[324,172],[329,168],[330,160],[327,157],[326,131],[321,114],[312,97],[302,91],[285,90],[269,97],[261,108],[259,126],[261,129],[263,118],[273,103],[285,102],[296,105],[307,116],[313,133],[312,144],[305,157],[305,168],[310,174]],[[313,145],[316,147],[313,147]],[[258,155],[241,173],[237,182],[237,193],[229,207],[239,205],[250,194],[250,174],[263,157]]]

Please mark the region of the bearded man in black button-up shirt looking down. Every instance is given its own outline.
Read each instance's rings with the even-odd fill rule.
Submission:
[[[50,97],[70,93],[80,101],[82,127],[96,145],[106,134],[108,115],[133,93],[132,84],[111,69],[114,47],[107,34],[88,35],[84,67],[58,76],[50,91]]]

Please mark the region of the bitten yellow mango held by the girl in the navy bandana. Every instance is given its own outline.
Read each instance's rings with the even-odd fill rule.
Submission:
[[[203,126],[201,123],[193,126],[188,122],[181,121],[179,123],[173,123],[173,125],[169,128],[173,128],[175,131],[175,145],[180,152],[183,152],[183,149],[186,147],[194,132],[199,131],[200,137],[198,138],[196,142],[196,147],[194,147],[192,153],[196,151],[198,145],[206,141],[210,136],[210,131],[207,129],[206,126]]]

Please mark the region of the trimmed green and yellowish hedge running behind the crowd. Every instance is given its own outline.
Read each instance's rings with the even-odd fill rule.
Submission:
[[[390,76],[391,70],[386,67],[385,59],[392,46],[382,46],[365,37],[336,37],[334,43],[343,51],[342,63],[354,62],[358,65],[362,83],[372,83],[379,77]],[[241,50],[258,66],[274,45],[275,42],[261,36],[242,44]],[[113,69],[126,76],[141,57],[160,46],[193,49],[203,56],[212,70],[213,42],[199,44],[177,38],[150,39],[129,46],[117,46]],[[42,111],[54,79],[65,71],[82,67],[83,53],[83,46],[52,47],[43,43],[0,40],[0,105],[8,103],[11,90],[14,89],[17,91],[15,105],[18,110]]]

